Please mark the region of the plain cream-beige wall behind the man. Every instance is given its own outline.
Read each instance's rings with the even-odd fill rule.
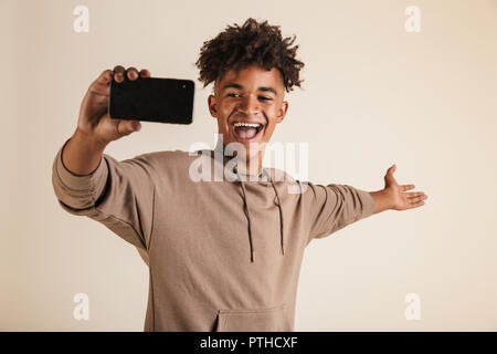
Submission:
[[[76,33],[73,10],[89,9]],[[404,30],[408,6],[421,32]],[[203,41],[247,17],[296,34],[304,90],[274,142],[309,144],[309,180],[429,195],[306,250],[296,331],[497,330],[497,1],[6,1],[1,13],[3,202],[0,330],[142,331],[147,267],[136,249],[64,212],[51,185],[56,150],[89,83],[116,64],[195,81],[194,123],[144,123],[112,144],[118,159],[213,146],[211,87],[197,81]],[[89,321],[73,296],[89,296]],[[405,295],[421,298],[408,321]]]

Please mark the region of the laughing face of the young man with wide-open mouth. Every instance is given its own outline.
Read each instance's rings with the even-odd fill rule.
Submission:
[[[246,158],[260,155],[248,156],[251,148],[264,150],[276,124],[285,117],[288,103],[283,98],[283,80],[276,67],[266,71],[252,65],[237,73],[231,70],[218,80],[214,95],[209,96],[209,111],[218,119],[224,146],[237,142],[245,147]],[[243,127],[240,123],[258,127]]]

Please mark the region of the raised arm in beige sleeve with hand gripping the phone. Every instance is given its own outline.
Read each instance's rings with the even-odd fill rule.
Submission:
[[[113,140],[139,131],[138,121],[118,121],[107,114],[109,84],[137,80],[135,69],[104,71],[86,92],[77,128],[59,149],[52,184],[61,207],[104,223],[117,236],[148,250],[155,205],[155,170],[149,154],[118,162],[104,154]],[[142,70],[141,77],[150,76]],[[140,253],[141,254],[141,253]]]

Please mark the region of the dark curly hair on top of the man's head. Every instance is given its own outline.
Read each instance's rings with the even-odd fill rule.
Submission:
[[[267,20],[257,22],[248,18],[242,27],[228,25],[214,39],[203,42],[195,63],[200,70],[199,81],[205,87],[230,70],[256,64],[267,71],[278,69],[287,92],[294,85],[300,87],[304,80],[299,80],[298,73],[304,63],[295,59],[298,45],[292,48],[294,41],[295,34],[283,39],[279,25],[269,25]]]

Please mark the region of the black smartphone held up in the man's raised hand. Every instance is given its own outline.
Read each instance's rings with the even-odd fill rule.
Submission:
[[[191,80],[138,77],[110,82],[108,115],[116,119],[191,124],[194,82]]]

